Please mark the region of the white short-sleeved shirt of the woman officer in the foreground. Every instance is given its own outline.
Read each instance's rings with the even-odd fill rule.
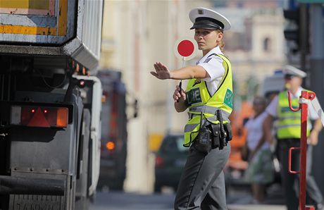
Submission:
[[[222,54],[219,47],[215,47],[208,51],[208,53],[202,57],[199,61],[197,61],[196,65],[201,66],[206,70],[210,78],[204,78],[206,81],[207,89],[211,96],[218,89],[218,85],[220,85],[220,81],[222,80],[223,74],[225,73],[225,69],[223,67],[223,59],[212,54]]]

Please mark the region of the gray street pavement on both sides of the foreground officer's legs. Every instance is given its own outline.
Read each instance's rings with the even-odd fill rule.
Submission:
[[[263,204],[251,204],[249,188],[228,189],[228,210],[285,210],[280,187],[267,190]],[[165,190],[161,194],[140,194],[132,192],[98,192],[90,210],[173,210],[175,194]]]

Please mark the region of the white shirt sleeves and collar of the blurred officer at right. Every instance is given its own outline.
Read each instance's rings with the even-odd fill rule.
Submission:
[[[305,90],[305,89],[302,87],[299,87],[296,94],[291,94],[290,96],[292,97],[292,99],[299,98],[301,96],[301,91],[303,91],[303,90]],[[273,98],[273,100],[270,102],[270,104],[266,108],[266,112],[268,114],[270,114],[270,116],[273,116],[273,117],[278,116],[278,100],[279,100],[279,98],[278,98],[278,96],[276,96],[275,98]],[[311,120],[318,119],[318,114],[316,113],[314,107],[311,104],[309,104],[309,118]]]

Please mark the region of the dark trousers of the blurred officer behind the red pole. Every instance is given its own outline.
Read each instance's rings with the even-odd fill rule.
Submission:
[[[299,147],[299,139],[285,139],[278,140],[278,154],[280,160],[280,173],[282,178],[282,187],[285,192],[286,206],[288,210],[296,210],[299,206],[299,175],[289,173],[289,159],[288,153],[290,147]],[[323,202],[323,196],[316,185],[315,179],[311,175],[311,163],[312,163],[312,151],[313,147],[307,147],[307,159],[306,159],[306,194],[311,199],[307,204],[320,204]],[[292,152],[292,170],[299,171],[299,152]]]

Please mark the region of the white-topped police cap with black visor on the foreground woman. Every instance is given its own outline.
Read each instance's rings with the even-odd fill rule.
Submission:
[[[190,29],[206,28],[229,30],[230,21],[220,13],[204,7],[193,8],[189,12],[189,18],[194,23]]]

